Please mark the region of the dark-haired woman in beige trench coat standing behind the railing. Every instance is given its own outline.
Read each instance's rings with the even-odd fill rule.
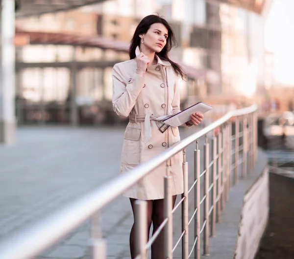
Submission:
[[[182,68],[168,54],[174,44],[172,28],[156,15],[145,17],[138,25],[129,48],[130,60],[113,67],[113,109],[121,117],[129,116],[123,142],[121,173],[160,154],[180,141],[177,127],[159,130],[161,120],[180,112],[178,76],[184,77]],[[186,126],[198,125],[202,114],[191,115]],[[173,177],[173,206],[176,195],[183,193],[182,154],[177,154],[147,175],[142,185],[133,186],[124,196],[131,202],[133,214],[137,199],[147,200],[147,233],[151,223],[153,233],[164,219],[164,176]],[[131,258],[135,255],[134,223],[130,233]],[[163,233],[151,247],[152,259],[164,258]]]

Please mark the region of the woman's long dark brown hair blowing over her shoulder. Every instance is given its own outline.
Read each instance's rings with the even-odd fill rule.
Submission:
[[[147,30],[150,28],[150,26],[155,23],[163,24],[168,29],[168,35],[169,35],[167,38],[167,44],[164,46],[161,52],[156,54],[162,60],[169,61],[172,64],[172,68],[174,72],[180,75],[182,79],[184,79],[186,74],[183,68],[169,58],[169,52],[171,51],[172,47],[176,44],[174,32],[171,26],[169,25],[169,23],[164,18],[160,17],[159,15],[153,15],[153,14],[148,15],[145,18],[143,18],[142,21],[137,26],[134,32],[133,38],[131,40],[131,45],[129,47],[130,59],[136,58],[136,53],[135,53],[136,48],[137,46],[140,46],[140,41],[141,41],[141,38],[139,37],[139,35],[147,33]]]

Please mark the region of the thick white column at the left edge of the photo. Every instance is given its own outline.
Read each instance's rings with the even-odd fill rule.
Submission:
[[[0,0],[0,143],[16,141],[15,2]]]

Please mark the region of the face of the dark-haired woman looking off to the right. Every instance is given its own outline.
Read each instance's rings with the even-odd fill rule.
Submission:
[[[150,26],[146,34],[141,34],[144,44],[151,52],[161,52],[167,44],[168,29],[161,23],[155,23]]]

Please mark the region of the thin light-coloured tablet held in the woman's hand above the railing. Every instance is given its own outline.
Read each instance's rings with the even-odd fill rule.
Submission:
[[[186,123],[187,121],[189,121],[191,119],[191,115],[194,113],[202,113],[205,114],[206,112],[212,110],[213,107],[206,104],[206,103],[196,103],[192,106],[190,106],[189,108],[179,112],[176,115],[173,115],[165,120],[163,120],[163,123],[168,124],[170,126],[173,127],[178,127],[184,123]]]

